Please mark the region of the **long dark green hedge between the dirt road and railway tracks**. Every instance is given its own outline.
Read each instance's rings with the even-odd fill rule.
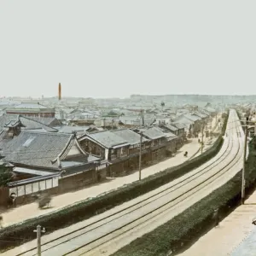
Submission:
[[[226,123],[225,123],[226,124]],[[53,232],[68,225],[78,223],[81,220],[90,218],[98,213],[105,212],[108,209],[118,206],[125,201],[130,201],[139,195],[143,195],[161,185],[171,182],[183,174],[191,172],[196,167],[201,166],[207,160],[218,154],[223,143],[223,138],[218,137],[212,148],[193,160],[184,162],[182,165],[166,169],[164,172],[146,177],[142,181],[128,184],[119,189],[113,190],[106,195],[99,195],[96,198],[81,201],[74,206],[69,206],[57,212],[51,212],[45,216],[28,219],[21,224],[14,224],[6,227],[0,232],[1,250],[9,247],[15,247],[25,241],[31,241],[35,238],[32,230],[38,225],[47,227],[47,233]],[[16,239],[19,237],[20,239]]]

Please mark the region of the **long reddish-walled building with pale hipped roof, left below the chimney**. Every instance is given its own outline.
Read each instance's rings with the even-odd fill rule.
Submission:
[[[22,102],[11,108],[6,109],[6,113],[10,114],[22,114],[24,116],[32,117],[55,117],[55,109],[48,108],[39,102]]]

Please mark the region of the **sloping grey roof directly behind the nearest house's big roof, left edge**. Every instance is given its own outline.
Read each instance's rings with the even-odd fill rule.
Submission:
[[[18,114],[9,114],[9,113],[5,113],[2,116],[0,116],[0,130],[3,129],[3,127],[5,125],[7,125],[9,122],[11,121],[16,121],[20,118],[20,122],[22,125],[25,125],[25,127],[23,127],[23,130],[38,130],[38,129],[44,129],[45,131],[49,131],[49,132],[55,132],[57,130],[39,123],[38,121],[32,120],[30,118],[27,118],[25,116],[22,115],[18,115]]]

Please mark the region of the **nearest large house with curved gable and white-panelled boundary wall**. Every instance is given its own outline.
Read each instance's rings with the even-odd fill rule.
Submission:
[[[32,177],[10,183],[10,193],[24,202],[40,190],[62,193],[78,189],[106,177],[106,165],[94,155],[86,154],[75,134],[38,131],[0,131],[0,148],[4,160],[15,167],[17,173]]]

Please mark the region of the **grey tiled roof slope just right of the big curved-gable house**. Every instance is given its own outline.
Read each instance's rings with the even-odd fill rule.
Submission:
[[[119,137],[118,135],[114,134],[111,131],[100,131],[90,133],[87,136],[91,137],[96,142],[101,143],[106,148],[111,148],[113,146],[128,143],[127,140],[123,139],[122,137]]]

